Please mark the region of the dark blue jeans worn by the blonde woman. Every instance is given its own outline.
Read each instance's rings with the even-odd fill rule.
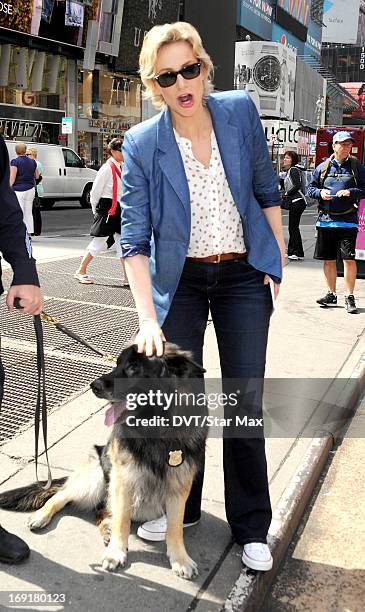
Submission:
[[[222,377],[263,379],[272,300],[264,274],[246,258],[219,264],[187,261],[168,316],[166,339],[193,353],[202,364],[209,309],[217,336]],[[246,406],[246,412],[250,407]],[[255,400],[262,415],[262,396]],[[266,542],[271,522],[265,441],[223,438],[225,505],[233,537],[239,544]],[[193,483],[184,522],[200,517],[204,470]]]

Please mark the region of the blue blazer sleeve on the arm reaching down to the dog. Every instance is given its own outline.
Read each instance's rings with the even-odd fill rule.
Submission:
[[[123,257],[151,255],[151,212],[149,184],[141,165],[138,147],[128,132],[123,142],[123,189],[121,199]]]

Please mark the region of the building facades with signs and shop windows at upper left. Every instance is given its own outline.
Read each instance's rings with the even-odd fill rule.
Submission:
[[[0,130],[67,144],[98,168],[106,145],[143,117],[138,55],[179,0],[11,0],[0,3]],[[4,10],[3,10],[4,9]],[[68,118],[71,133],[63,133]]]

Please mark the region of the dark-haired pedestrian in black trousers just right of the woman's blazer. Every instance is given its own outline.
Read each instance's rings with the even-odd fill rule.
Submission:
[[[299,157],[295,151],[285,151],[283,167],[285,171],[283,179],[284,198],[289,205],[288,259],[300,261],[304,257],[299,225],[301,216],[306,208],[302,176],[305,169],[299,165]]]

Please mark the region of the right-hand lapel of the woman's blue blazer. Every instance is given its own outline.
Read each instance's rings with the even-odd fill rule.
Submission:
[[[230,123],[229,113],[213,96],[208,98],[208,108],[227,181],[233,199],[238,204],[241,195],[241,149],[238,127]]]

